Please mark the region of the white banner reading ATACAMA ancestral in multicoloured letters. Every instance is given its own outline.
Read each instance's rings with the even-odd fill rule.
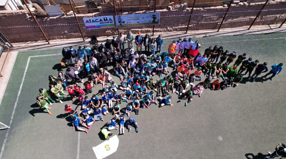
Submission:
[[[113,16],[97,16],[83,18],[86,29],[102,29],[115,27]]]

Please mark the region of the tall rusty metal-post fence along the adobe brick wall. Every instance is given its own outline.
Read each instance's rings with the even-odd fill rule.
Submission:
[[[51,2],[50,2],[51,1]],[[0,14],[0,18],[13,19],[21,17],[25,19],[22,23],[13,23],[13,21],[1,23],[2,38],[9,43],[25,42],[35,40],[46,40],[60,38],[76,38],[92,35],[115,35],[119,29],[86,29],[82,18],[107,15],[124,15],[160,12],[160,25],[130,27],[125,29],[141,29],[145,32],[157,31],[183,31],[198,29],[217,29],[219,31],[224,27],[234,27],[253,25],[281,23],[280,27],[286,21],[285,3],[277,5],[268,5],[269,0],[263,1],[258,5],[246,5],[246,7],[237,7],[234,0],[150,0],[150,1],[133,1],[133,0],[102,0],[100,3],[95,1],[84,1],[84,3],[75,3],[74,0],[65,0],[64,4],[58,1],[50,0],[48,6],[41,6],[39,3],[31,3],[23,0],[23,12]],[[261,1],[261,0],[259,0]],[[69,4],[66,4],[66,3]],[[242,2],[241,2],[242,3]],[[245,2],[246,3],[246,2]],[[276,3],[275,3],[276,4]],[[33,10],[31,10],[31,5]],[[224,6],[223,6],[224,5]],[[254,7],[255,6],[255,7]],[[283,7],[284,6],[284,7]],[[19,6],[20,7],[20,6]],[[45,10],[49,11],[45,11]],[[53,11],[54,9],[54,11]],[[261,17],[270,16],[272,19],[263,19]],[[62,14],[49,16],[54,14]],[[242,21],[231,21],[234,16],[241,15]],[[27,18],[28,17],[28,18]],[[246,17],[248,21],[243,21]],[[251,17],[251,20],[249,20]],[[255,18],[254,18],[255,17]],[[259,19],[260,18],[260,19]],[[259,23],[257,22],[259,19]],[[5,24],[5,25],[4,25]],[[22,25],[25,24],[25,25]],[[178,24],[178,26],[176,26]],[[207,25],[207,26],[206,26]],[[173,26],[171,29],[168,29]],[[126,32],[126,30],[120,30]],[[60,33],[59,33],[60,32]],[[144,31],[143,31],[144,32]],[[101,34],[99,34],[101,33]],[[31,34],[31,36],[29,36]],[[58,34],[58,35],[57,35]],[[27,38],[21,38],[26,37]]]

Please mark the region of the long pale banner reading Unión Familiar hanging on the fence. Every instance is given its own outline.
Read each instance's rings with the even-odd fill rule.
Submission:
[[[160,23],[160,12],[146,14],[128,14],[115,16],[116,27],[135,27],[143,25],[158,25]]]

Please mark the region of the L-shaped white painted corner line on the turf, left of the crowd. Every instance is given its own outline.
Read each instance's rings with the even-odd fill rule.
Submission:
[[[27,73],[27,69],[28,69],[28,66],[29,66],[30,59],[31,58],[36,58],[36,57],[54,56],[54,55],[61,55],[61,53],[50,54],[50,55],[29,56],[28,61],[27,61],[27,65],[26,65],[26,68],[25,68],[25,71],[24,71],[24,75],[23,75],[23,78],[22,78],[22,82],[21,82],[21,85],[20,85],[20,89],[19,89],[19,92],[18,92],[18,95],[17,95],[17,98],[16,98],[16,102],[15,102],[14,108],[13,108],[13,112],[12,112],[11,120],[10,120],[10,123],[9,123],[9,127],[11,127],[11,124],[12,124],[12,121],[13,121],[13,118],[14,118],[15,110],[16,110],[17,103],[18,103],[18,100],[19,100],[19,96],[20,96],[20,93],[21,93],[21,90],[22,90],[24,79],[25,79],[25,76],[26,76],[26,73]],[[10,129],[7,130],[7,133],[6,133],[6,136],[5,136],[5,139],[4,139],[4,143],[2,145],[2,149],[1,149],[1,152],[0,152],[0,159],[2,158],[2,155],[3,155],[3,151],[4,151],[5,144],[6,144],[6,141],[7,141],[7,138],[8,138],[9,130]]]

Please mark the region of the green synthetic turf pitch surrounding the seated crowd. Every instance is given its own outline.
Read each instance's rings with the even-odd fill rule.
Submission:
[[[236,51],[237,56],[246,52],[247,58],[268,62],[268,68],[275,63],[286,63],[286,33],[192,40],[199,40],[200,52],[210,45],[218,45],[229,52]],[[162,51],[167,51],[171,42],[164,40]],[[53,103],[52,115],[38,107],[35,101],[39,88],[48,90],[48,75],[65,72],[60,66],[61,50],[21,51],[15,57],[0,105],[2,123],[8,125],[13,114],[9,132],[0,130],[0,157],[3,159],[96,158],[92,147],[103,142],[99,137],[100,128],[112,115],[104,116],[104,122],[95,122],[86,134],[72,129],[71,120],[64,112],[65,104],[80,110],[76,102],[67,101],[69,97],[63,104]],[[112,77],[120,84],[118,77]],[[138,122],[139,132],[133,128],[128,133],[125,129],[125,135],[118,136],[117,151],[107,158],[264,158],[267,151],[274,151],[277,143],[286,140],[285,77],[284,68],[272,81],[258,78],[255,82],[244,80],[245,84],[236,88],[204,90],[202,96],[194,96],[187,107],[183,101],[178,103],[173,93],[173,107],[158,108],[153,104],[148,109],[140,109],[139,115],[132,112],[130,117]],[[156,75],[154,79],[157,78]],[[99,86],[93,87],[94,93],[101,89]],[[92,94],[88,95],[89,99]],[[123,102],[121,108],[125,104]],[[119,134],[119,130],[113,132]]]

